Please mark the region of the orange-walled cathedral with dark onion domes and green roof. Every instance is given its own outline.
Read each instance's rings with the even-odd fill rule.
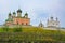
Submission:
[[[22,16],[22,10],[17,10],[17,14],[13,12],[12,14],[9,13],[8,19],[5,20],[6,26],[11,25],[22,25],[22,26],[28,26],[30,25],[30,18],[28,18],[28,14],[25,13],[24,16]]]

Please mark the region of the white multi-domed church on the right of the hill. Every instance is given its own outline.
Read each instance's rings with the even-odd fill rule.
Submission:
[[[50,17],[50,19],[48,19],[48,22],[47,22],[47,27],[58,28],[60,27],[58,18],[56,17],[54,20],[53,17]]]

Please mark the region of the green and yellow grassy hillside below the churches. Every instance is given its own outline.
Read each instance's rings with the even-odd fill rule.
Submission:
[[[14,41],[65,41],[65,32],[44,30],[39,27],[0,28],[0,40]]]

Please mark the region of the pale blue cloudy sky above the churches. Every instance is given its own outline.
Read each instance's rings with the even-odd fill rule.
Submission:
[[[8,14],[23,11],[22,16],[27,12],[30,25],[38,26],[40,22],[47,26],[51,16],[58,17],[61,27],[65,27],[65,0],[0,0],[0,25],[5,23]]]

